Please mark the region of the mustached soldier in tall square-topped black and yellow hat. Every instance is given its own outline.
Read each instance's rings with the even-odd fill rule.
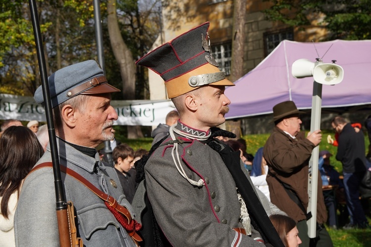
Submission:
[[[137,61],[162,77],[180,115],[170,135],[136,163],[137,182],[144,179],[146,194],[139,193],[141,183],[133,207],[143,209],[136,199],[144,199],[153,209],[149,216],[137,212],[143,237],[154,232],[144,244],[283,246],[266,213],[270,204],[255,191],[240,152],[214,138],[235,137],[215,128],[226,121],[231,101],[224,90],[234,84],[210,53],[208,28],[207,22],[191,29]],[[159,227],[148,227],[143,221],[148,218],[149,226]]]

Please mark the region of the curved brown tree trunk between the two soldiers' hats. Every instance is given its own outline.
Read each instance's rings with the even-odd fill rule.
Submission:
[[[116,0],[108,0],[108,34],[111,42],[112,51],[116,61],[120,65],[120,74],[122,79],[123,96],[125,100],[135,99],[135,75],[136,65],[132,52],[122,39],[117,15]],[[136,139],[143,137],[140,126],[128,126],[128,138]]]

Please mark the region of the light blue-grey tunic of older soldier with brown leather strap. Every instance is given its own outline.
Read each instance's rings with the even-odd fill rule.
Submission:
[[[60,139],[57,139],[57,142],[60,165],[78,172],[95,187],[115,198],[131,213],[133,212],[125,199],[113,167],[103,166],[98,154],[92,158]],[[38,164],[50,161],[50,147],[48,146]],[[84,246],[135,246],[126,230],[100,198],[75,178],[63,172],[61,175],[66,200],[72,201],[77,211],[78,231]],[[110,182],[111,179],[115,181],[117,188],[114,188],[112,185],[114,183]],[[38,169],[26,177],[15,212],[14,230],[16,246],[59,246],[52,168]]]

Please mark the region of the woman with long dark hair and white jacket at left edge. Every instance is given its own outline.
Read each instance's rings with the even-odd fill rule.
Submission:
[[[10,126],[0,138],[0,246],[13,247],[13,218],[23,179],[44,154],[38,138],[24,126]]]

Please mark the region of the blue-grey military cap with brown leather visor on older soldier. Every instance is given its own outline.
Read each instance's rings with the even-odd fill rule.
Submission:
[[[108,84],[103,70],[94,60],[64,67],[48,77],[52,108],[79,94],[119,92]],[[39,86],[34,95],[35,101],[44,104],[43,88]]]

